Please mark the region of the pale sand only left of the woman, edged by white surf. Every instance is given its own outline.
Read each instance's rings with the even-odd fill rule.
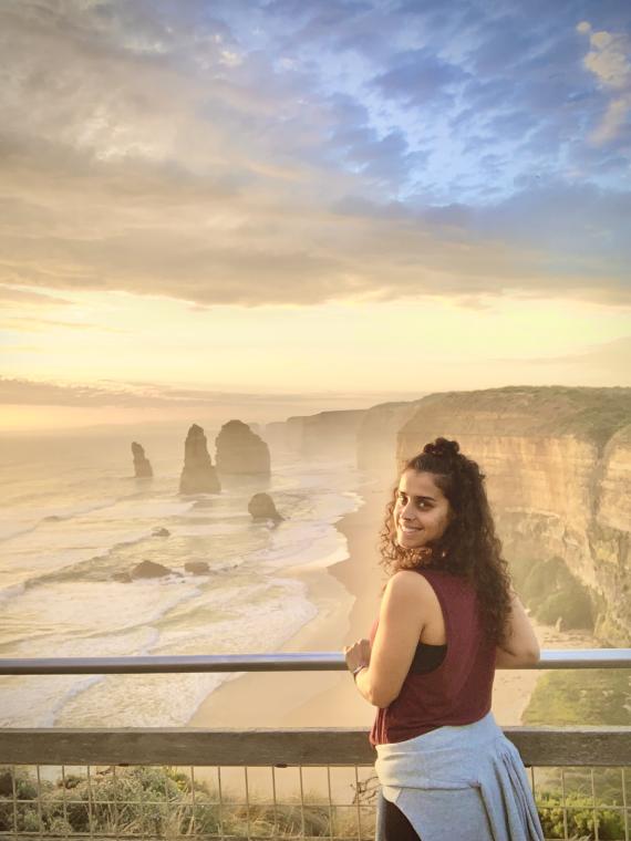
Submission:
[[[383,510],[381,502],[375,510],[373,485],[362,482],[355,489],[363,500],[360,507],[334,523],[346,540],[346,558],[323,568],[290,569],[306,584],[307,598],[318,614],[281,645],[280,652],[341,652],[343,645],[368,636],[381,589],[376,564],[379,520],[373,529],[374,563],[364,563],[353,549],[358,534],[368,536],[370,531],[366,516],[370,522],[371,513],[374,517],[379,510],[381,516]],[[251,698],[257,699],[256,705]],[[246,673],[226,682],[201,702],[186,726],[370,727],[372,719],[373,708],[358,694],[346,672],[276,672]]]

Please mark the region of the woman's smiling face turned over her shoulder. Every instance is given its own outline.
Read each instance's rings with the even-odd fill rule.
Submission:
[[[443,537],[452,520],[447,497],[434,475],[405,470],[394,503],[396,542],[403,549],[421,549]]]

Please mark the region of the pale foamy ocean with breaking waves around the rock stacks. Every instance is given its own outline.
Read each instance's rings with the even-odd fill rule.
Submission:
[[[207,430],[213,461],[216,432]],[[354,464],[272,450],[269,479],[224,479],[218,496],[183,497],[185,436],[124,427],[3,436],[0,657],[265,653],[317,615],[292,570],[346,558],[334,523],[362,502]],[[132,440],[145,447],[153,479],[133,478]],[[252,522],[257,491],[285,517],[277,527]],[[143,560],[173,574],[113,580]],[[185,572],[187,561],[210,571]],[[0,725],[185,726],[234,677],[4,676]]]

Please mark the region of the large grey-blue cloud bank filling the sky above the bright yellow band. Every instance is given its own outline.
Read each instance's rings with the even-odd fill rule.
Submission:
[[[528,28],[519,3],[6,3],[0,282],[624,300],[623,127],[587,142],[613,89],[555,9]]]

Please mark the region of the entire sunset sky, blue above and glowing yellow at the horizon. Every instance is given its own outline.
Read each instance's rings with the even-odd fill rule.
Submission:
[[[0,114],[0,429],[631,385],[628,0],[3,0]]]

